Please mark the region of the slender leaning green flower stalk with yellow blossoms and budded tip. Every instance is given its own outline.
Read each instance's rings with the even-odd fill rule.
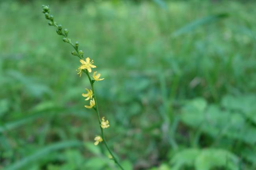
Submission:
[[[101,135],[96,135],[95,137],[95,145],[98,145],[99,143],[103,142],[104,145],[106,146],[106,148],[108,149],[108,152],[111,156],[109,156],[111,159],[113,159],[115,161],[115,163],[122,169],[124,170],[124,168],[122,168],[122,166],[120,165],[119,161],[117,161],[117,159],[115,158],[115,156],[113,155],[113,153],[111,152],[111,150],[108,147],[108,144],[106,142],[105,136],[104,136],[104,129],[108,128],[109,125],[109,121],[105,120],[105,117],[102,117],[100,119],[100,113],[98,110],[98,103],[97,103],[97,99],[96,99],[96,95],[95,95],[95,90],[94,90],[94,83],[95,81],[101,81],[104,80],[104,78],[100,78],[100,73],[96,74],[97,71],[93,72],[92,78],[90,76],[90,73],[92,71],[92,69],[96,68],[93,62],[93,60],[91,60],[89,57],[85,58],[85,60],[83,60],[84,58],[84,53],[82,50],[78,50],[78,46],[79,43],[75,42],[72,43],[71,39],[68,37],[68,33],[69,31],[67,29],[62,29],[62,26],[60,24],[57,24],[57,22],[54,21],[54,17],[53,15],[50,15],[50,9],[49,6],[46,5],[42,5],[42,9],[43,9],[43,13],[45,14],[45,18],[47,20],[49,20],[48,25],[49,26],[54,26],[57,27],[56,33],[58,35],[63,36],[62,40],[68,44],[70,44],[75,51],[72,51],[71,54],[74,56],[77,56],[80,58],[80,63],[81,65],[78,67],[78,69],[76,71],[78,71],[78,75],[81,77],[82,73],[85,73],[90,81],[91,84],[91,89],[85,89],[87,91],[87,93],[82,93],[83,97],[86,97],[85,101],[89,101],[89,105],[85,105],[85,108],[87,109],[94,109],[96,111],[97,117],[98,117],[98,122],[99,122],[99,126],[100,126],[100,131],[101,131]]]

